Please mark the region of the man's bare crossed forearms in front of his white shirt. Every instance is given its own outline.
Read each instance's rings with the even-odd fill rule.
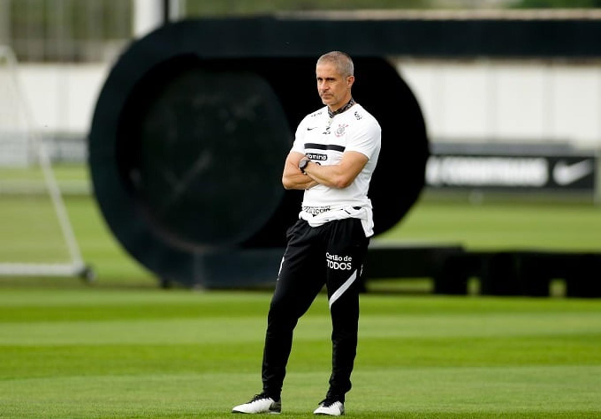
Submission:
[[[285,189],[308,189],[317,184],[346,188],[352,184],[368,160],[367,156],[360,152],[346,151],[340,163],[320,166],[311,162],[305,167],[305,173],[302,173],[298,166],[303,157],[304,154],[296,151],[291,151],[286,157],[282,174],[282,185]]]

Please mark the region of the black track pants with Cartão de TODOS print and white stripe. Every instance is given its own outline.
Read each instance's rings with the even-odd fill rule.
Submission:
[[[359,321],[359,276],[369,239],[358,219],[332,221],[314,228],[299,220],[288,229],[287,239],[267,318],[263,391],[279,399],[294,327],[325,283],[332,316],[328,395],[344,401],[351,387]]]

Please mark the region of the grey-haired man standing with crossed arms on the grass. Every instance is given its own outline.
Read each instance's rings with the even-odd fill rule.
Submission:
[[[287,247],[267,318],[263,392],[235,413],[281,412],[285,367],[298,319],[324,283],[332,317],[332,375],[314,414],[344,414],[350,390],[359,321],[359,276],[373,235],[371,174],[380,152],[380,125],[353,100],[353,61],[346,53],[322,55],[317,91],[326,106],[305,118],[284,163],[282,184],[305,190],[299,220]]]

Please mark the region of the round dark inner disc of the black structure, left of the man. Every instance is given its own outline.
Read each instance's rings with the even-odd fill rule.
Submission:
[[[289,137],[263,77],[179,56],[151,69],[127,98],[116,160],[156,235],[182,249],[231,246],[251,238],[281,202]]]

